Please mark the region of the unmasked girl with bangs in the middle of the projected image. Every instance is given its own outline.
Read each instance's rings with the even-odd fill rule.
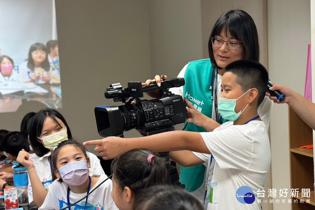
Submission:
[[[32,44],[28,51],[28,59],[19,69],[20,82],[48,83],[51,77],[46,46],[42,43]]]

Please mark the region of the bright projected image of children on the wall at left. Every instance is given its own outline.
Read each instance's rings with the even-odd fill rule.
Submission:
[[[6,18],[10,17],[10,18]],[[62,107],[54,0],[2,0],[0,113],[27,101]]]

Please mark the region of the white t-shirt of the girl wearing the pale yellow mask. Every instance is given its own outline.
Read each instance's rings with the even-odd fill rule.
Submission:
[[[46,190],[48,190],[49,185],[52,183],[52,176],[51,176],[51,168],[49,164],[49,156],[50,152],[42,157],[38,157],[35,153],[30,154],[31,161],[34,163],[37,175],[39,180],[43,183]],[[93,153],[88,152],[88,156],[91,161],[91,167],[89,168],[89,175],[101,175],[104,174],[103,168],[100,165],[100,160],[97,158],[96,155]],[[106,176],[106,175],[105,175]],[[31,181],[28,177],[28,202],[30,203],[30,207],[34,207],[35,204],[33,201],[33,192],[31,188]]]

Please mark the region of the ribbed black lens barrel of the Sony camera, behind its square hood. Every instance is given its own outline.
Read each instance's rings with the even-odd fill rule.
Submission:
[[[137,128],[144,124],[144,114],[141,105],[130,104],[119,106],[121,116],[123,118],[123,130]]]

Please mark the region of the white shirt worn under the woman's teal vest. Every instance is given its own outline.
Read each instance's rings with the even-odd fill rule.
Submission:
[[[179,72],[177,77],[183,77],[184,78],[188,65],[189,65],[189,63],[184,66],[184,68]],[[211,79],[211,78],[209,78],[209,79]],[[217,99],[219,99],[221,96],[221,82],[222,82],[222,76],[218,74],[217,93],[216,93]],[[174,93],[176,95],[181,95],[182,97],[184,97],[184,87],[183,86],[180,86],[177,88],[169,88],[169,91],[171,91],[172,93]],[[266,128],[267,128],[267,131],[269,128],[269,123],[270,123],[270,111],[271,111],[272,104],[273,104],[272,101],[267,96],[265,96],[264,100],[261,102],[261,104],[258,107],[258,115],[260,116],[261,120],[264,121]],[[211,119],[215,120],[214,113],[215,113],[215,111],[213,109]]]

